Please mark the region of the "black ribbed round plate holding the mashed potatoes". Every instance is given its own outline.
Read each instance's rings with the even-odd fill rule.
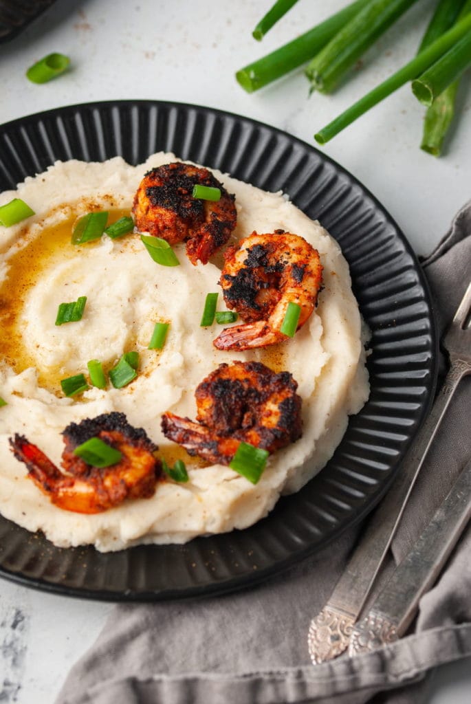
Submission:
[[[60,108],[0,127],[0,188],[57,159],[137,164],[159,150],[285,191],[337,238],[372,331],[371,396],[332,460],[244,531],[118,553],[61,549],[0,517],[0,570],[22,584],[109,600],[237,589],[279,572],[360,520],[387,491],[427,412],[437,337],[425,279],[382,206],[337,164],[289,134],[209,108],[148,101]]]

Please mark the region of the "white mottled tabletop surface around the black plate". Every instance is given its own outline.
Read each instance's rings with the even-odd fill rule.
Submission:
[[[343,4],[301,0],[260,46],[250,31],[269,0],[58,0],[29,30],[0,46],[0,121],[94,100],[164,99],[248,115],[312,143],[318,128],[410,56],[431,2],[409,11],[334,96],[308,100],[301,72],[248,95],[234,71]],[[42,86],[27,82],[25,69],[51,51],[68,54],[73,70]],[[408,87],[325,147],[382,201],[418,253],[437,243],[471,196],[469,75],[459,110],[463,120],[439,161],[417,147],[423,111]],[[1,581],[0,700],[51,703],[111,608]],[[471,660],[441,668],[428,704],[468,703],[470,673]]]

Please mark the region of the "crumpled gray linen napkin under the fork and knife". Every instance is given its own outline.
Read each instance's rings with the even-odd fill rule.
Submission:
[[[471,203],[423,266],[442,332],[471,278]],[[470,382],[460,385],[422,468],[376,590],[471,455]],[[408,636],[314,667],[306,645],[310,617],[329,597],[360,530],[252,589],[203,601],[117,606],[56,704],[417,703],[430,668],[471,655],[471,531],[422,598]]]

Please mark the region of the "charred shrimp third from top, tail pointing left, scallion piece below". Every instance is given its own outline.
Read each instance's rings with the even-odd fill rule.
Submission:
[[[196,422],[162,416],[163,434],[190,455],[228,465],[241,441],[270,453],[301,437],[301,396],[289,372],[260,362],[221,364],[196,387]]]

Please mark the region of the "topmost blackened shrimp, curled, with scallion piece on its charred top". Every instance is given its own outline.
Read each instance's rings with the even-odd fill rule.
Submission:
[[[193,198],[195,184],[220,189],[220,200]],[[169,244],[186,241],[191,263],[206,264],[237,225],[234,198],[208,169],[175,162],[146,173],[134,196],[132,213],[139,232],[149,232]]]

